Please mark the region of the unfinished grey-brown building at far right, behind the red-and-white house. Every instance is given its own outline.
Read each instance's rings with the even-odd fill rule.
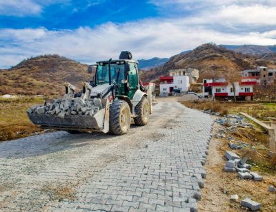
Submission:
[[[257,67],[257,70],[244,70],[241,73],[244,81],[253,81],[262,85],[273,84],[276,78],[276,70],[268,70],[264,66]]]

